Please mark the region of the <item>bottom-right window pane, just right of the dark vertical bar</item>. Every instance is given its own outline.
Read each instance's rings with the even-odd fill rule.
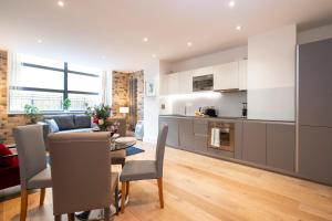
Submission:
[[[87,106],[94,106],[101,103],[98,95],[69,94],[72,103],[71,110],[86,110]]]

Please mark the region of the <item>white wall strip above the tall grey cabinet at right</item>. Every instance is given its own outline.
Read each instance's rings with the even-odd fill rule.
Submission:
[[[332,38],[332,24],[299,32],[298,44],[304,44],[304,43],[321,41],[331,38]]]

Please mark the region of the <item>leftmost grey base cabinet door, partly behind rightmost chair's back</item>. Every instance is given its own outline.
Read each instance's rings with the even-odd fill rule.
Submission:
[[[177,118],[173,117],[159,117],[159,125],[168,125],[168,134],[166,139],[166,145],[170,147],[179,148],[178,144],[178,122]]]

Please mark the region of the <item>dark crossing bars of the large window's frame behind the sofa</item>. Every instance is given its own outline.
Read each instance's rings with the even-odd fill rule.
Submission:
[[[33,64],[33,63],[27,63],[27,62],[21,62],[21,66],[28,66],[28,67],[34,67],[34,69],[40,69],[40,70],[48,70],[48,71],[54,71],[59,72],[59,74],[63,74],[63,90],[52,90],[52,88],[40,88],[40,87],[27,87],[27,86],[9,86],[9,90],[15,90],[15,91],[29,91],[29,92],[50,92],[50,93],[61,93],[63,95],[63,99],[69,97],[69,94],[80,94],[80,95],[100,95],[100,92],[84,92],[84,91],[70,91],[68,88],[68,83],[69,83],[69,74],[77,74],[77,75],[84,75],[84,76],[90,76],[90,77],[102,77],[100,74],[92,74],[92,73],[85,73],[85,72],[79,72],[79,71],[72,71],[69,70],[69,63],[63,62],[63,69],[59,67],[52,67],[52,66],[44,66],[40,64]],[[9,93],[10,96],[10,93]],[[11,98],[9,97],[9,102],[11,102]],[[21,114],[24,110],[11,110],[10,109],[10,104],[8,105],[9,107],[9,113],[10,114]],[[41,110],[41,113],[63,113],[64,109],[62,110]],[[70,110],[71,113],[84,113],[84,110]]]

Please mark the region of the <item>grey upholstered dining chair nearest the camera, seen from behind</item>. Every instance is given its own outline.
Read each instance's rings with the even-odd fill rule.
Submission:
[[[118,175],[111,171],[108,133],[52,134],[49,144],[55,220],[94,209],[104,209],[110,220]]]

